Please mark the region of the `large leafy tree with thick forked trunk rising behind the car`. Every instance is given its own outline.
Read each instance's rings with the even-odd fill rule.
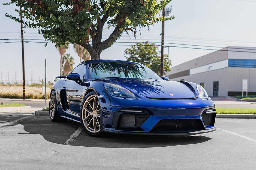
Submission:
[[[23,24],[38,28],[46,40],[57,46],[76,43],[88,50],[91,59],[109,48],[121,34],[136,28],[149,27],[162,20],[160,11],[171,0],[11,0],[22,7]],[[8,5],[8,4],[7,4]],[[20,13],[20,8],[16,9]],[[19,21],[19,17],[6,16]],[[113,27],[107,39],[102,39],[103,27]]]

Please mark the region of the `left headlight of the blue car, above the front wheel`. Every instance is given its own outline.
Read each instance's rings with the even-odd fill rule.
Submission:
[[[129,90],[125,89],[124,87],[116,83],[106,82],[104,83],[104,88],[110,95],[113,95],[113,96],[136,98],[136,96],[132,94],[132,92],[130,92]]]

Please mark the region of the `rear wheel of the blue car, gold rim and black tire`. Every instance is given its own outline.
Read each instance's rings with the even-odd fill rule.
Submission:
[[[53,90],[50,95],[50,102],[49,102],[49,114],[50,119],[53,122],[65,122],[67,121],[66,118],[60,117],[57,110],[57,98],[56,93]]]

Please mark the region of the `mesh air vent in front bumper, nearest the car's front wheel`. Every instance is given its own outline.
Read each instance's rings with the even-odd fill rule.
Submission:
[[[138,128],[149,115],[146,114],[121,114],[118,121],[118,128]]]

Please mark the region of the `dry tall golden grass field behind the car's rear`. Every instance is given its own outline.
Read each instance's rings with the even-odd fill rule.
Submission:
[[[49,99],[51,89],[46,87],[46,98]],[[0,86],[0,98],[22,99],[22,86]],[[26,99],[44,99],[45,92],[41,87],[27,87]]]

